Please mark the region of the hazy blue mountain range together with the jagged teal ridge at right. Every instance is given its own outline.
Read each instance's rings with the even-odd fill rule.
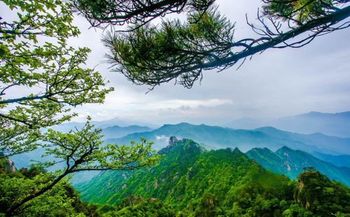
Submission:
[[[256,157],[255,160],[263,167],[285,174],[290,179],[296,179],[303,167],[315,167],[330,179],[350,186],[349,138],[330,137],[320,133],[297,134],[274,127],[232,130],[225,127],[180,123],[164,125],[151,132],[129,134],[119,139],[107,139],[106,142],[128,144],[132,140],[137,141],[139,137],[144,137],[154,141],[155,147],[160,149],[167,146],[167,141],[172,136],[193,139],[208,149],[237,147],[251,158]],[[253,155],[254,152],[257,155]],[[330,153],[343,153],[343,155],[330,155]],[[286,155],[293,158],[288,159]],[[341,162],[339,162],[340,159],[342,159]]]

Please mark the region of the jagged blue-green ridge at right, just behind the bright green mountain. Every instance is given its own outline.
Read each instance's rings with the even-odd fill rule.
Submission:
[[[330,179],[350,186],[349,167],[337,167],[304,151],[295,151],[288,147],[282,147],[276,152],[272,152],[268,148],[253,148],[246,155],[256,160],[262,167],[269,169],[269,171],[284,174],[290,179],[297,179],[304,167],[314,167]]]

